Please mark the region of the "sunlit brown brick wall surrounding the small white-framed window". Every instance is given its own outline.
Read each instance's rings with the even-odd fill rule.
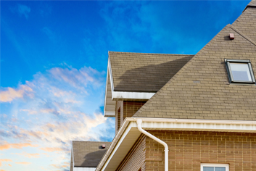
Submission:
[[[200,170],[226,163],[230,171],[256,171],[256,133],[152,131],[169,146],[169,171]],[[164,170],[164,147],[146,137],[146,170]]]

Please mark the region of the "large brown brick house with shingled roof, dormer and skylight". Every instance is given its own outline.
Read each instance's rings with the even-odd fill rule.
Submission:
[[[256,171],[256,0],[195,55],[109,52],[96,171]]]

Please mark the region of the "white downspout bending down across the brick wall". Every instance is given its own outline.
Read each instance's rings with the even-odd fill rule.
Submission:
[[[137,122],[137,127],[138,127],[138,130],[141,132],[141,133],[144,133],[145,135],[149,136],[150,138],[152,138],[153,140],[157,141],[158,143],[161,143],[162,146],[165,146],[165,171],[168,171],[168,145],[167,143],[165,143],[164,141],[160,140],[159,138],[155,137],[154,135],[152,135],[151,133],[148,133],[146,132],[146,130],[143,130],[141,128],[141,123],[142,123],[142,120],[139,119],[139,120],[136,120]]]

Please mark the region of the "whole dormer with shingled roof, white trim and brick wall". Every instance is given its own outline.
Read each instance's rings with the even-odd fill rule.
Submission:
[[[194,55],[109,51],[104,117],[116,117],[116,131]]]

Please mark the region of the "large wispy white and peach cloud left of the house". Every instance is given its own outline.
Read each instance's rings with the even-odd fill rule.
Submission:
[[[22,149],[11,152],[17,157],[26,157],[22,162],[50,158],[54,163],[44,168],[56,170],[68,167],[72,140],[111,141],[115,133],[104,131],[114,128],[115,124],[99,109],[103,104],[99,98],[104,97],[105,76],[105,72],[91,67],[76,69],[65,64],[38,72],[33,80],[12,88],[24,93],[15,100],[12,98],[12,103],[5,103],[9,107],[0,116],[3,123],[0,150],[8,154],[12,149]],[[3,89],[3,92],[9,90]],[[33,93],[33,98],[29,93]]]

